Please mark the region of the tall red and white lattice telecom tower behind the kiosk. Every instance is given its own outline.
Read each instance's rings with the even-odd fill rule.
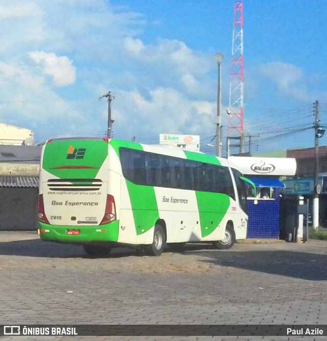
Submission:
[[[230,140],[239,140],[240,153],[244,152],[243,134],[243,3],[234,4],[233,38],[231,49],[229,116],[227,155]]]

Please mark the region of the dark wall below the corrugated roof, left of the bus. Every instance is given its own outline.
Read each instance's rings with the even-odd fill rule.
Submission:
[[[0,230],[38,229],[38,188],[0,187]]]

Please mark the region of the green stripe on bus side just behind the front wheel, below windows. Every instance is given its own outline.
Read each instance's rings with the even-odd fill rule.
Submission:
[[[201,236],[213,233],[221,223],[230,205],[226,194],[196,191],[200,216]]]

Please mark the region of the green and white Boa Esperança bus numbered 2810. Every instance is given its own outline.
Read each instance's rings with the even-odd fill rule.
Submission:
[[[116,139],[46,141],[39,186],[42,240],[88,254],[130,246],[230,248],[247,234],[249,182],[227,159]]]

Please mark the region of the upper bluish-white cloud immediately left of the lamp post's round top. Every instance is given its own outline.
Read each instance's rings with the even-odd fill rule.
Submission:
[[[128,37],[124,48],[135,84],[173,87],[196,98],[208,98],[215,92],[209,76],[216,67],[214,58],[192,51],[183,42],[161,39],[153,45]]]

